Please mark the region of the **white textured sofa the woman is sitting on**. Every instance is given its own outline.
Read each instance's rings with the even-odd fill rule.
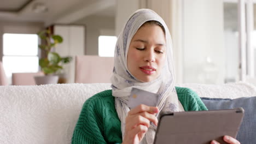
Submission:
[[[223,104],[228,105],[227,101],[231,101],[232,105],[232,99],[237,98],[247,98],[249,101],[254,99],[255,103],[250,103],[249,106],[256,106],[253,97],[256,95],[256,88],[249,83],[185,83],[176,86],[193,89],[202,97],[204,103],[213,107],[211,109],[217,109]],[[110,89],[110,83],[0,86],[0,143],[71,143],[84,101],[106,89]],[[220,102],[222,104],[219,104]],[[248,105],[241,100],[237,103]],[[249,113],[250,116],[255,114],[253,111]],[[243,121],[247,120],[245,117]],[[246,127],[252,129],[242,128],[250,134],[246,143],[253,143],[253,135],[256,135],[253,129],[256,128],[256,117],[251,118]]]

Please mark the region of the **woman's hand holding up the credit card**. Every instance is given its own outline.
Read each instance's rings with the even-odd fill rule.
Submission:
[[[150,122],[158,125],[158,119],[155,114],[158,113],[158,107],[139,105],[131,109],[125,119],[124,143],[139,143],[147,132]]]

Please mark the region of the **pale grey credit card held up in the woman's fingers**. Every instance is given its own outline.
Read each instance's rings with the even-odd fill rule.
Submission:
[[[132,88],[131,95],[129,97],[128,106],[130,109],[144,104],[147,106],[156,106],[158,103],[159,94],[144,91],[138,88]]]

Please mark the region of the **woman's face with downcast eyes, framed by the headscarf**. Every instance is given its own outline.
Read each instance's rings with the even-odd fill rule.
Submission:
[[[165,33],[158,25],[146,24],[133,35],[127,53],[127,67],[141,82],[158,78],[166,58]]]

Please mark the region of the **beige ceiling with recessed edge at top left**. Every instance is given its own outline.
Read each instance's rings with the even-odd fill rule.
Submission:
[[[115,16],[115,0],[0,0],[0,21],[74,23],[89,15]]]

